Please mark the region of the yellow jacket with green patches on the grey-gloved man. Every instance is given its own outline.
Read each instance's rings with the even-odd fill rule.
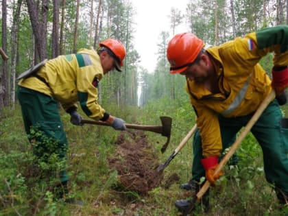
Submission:
[[[99,55],[93,49],[80,49],[76,54],[58,56],[45,63],[37,77],[20,80],[19,86],[30,88],[59,101],[64,110],[77,108],[95,120],[104,117],[104,108],[97,104],[98,82],[104,76]]]

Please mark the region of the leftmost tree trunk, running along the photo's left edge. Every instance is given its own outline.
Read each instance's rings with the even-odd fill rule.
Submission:
[[[2,0],[2,51],[1,56],[3,58],[3,69],[0,75],[0,108],[9,105],[9,79],[7,69],[7,3],[6,0]],[[5,60],[6,59],[6,60]]]

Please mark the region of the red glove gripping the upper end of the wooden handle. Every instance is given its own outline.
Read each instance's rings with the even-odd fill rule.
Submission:
[[[280,96],[288,87],[288,68],[273,67],[272,69],[272,87],[275,90],[277,96]]]

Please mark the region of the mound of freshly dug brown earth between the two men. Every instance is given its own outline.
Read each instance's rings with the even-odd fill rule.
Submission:
[[[118,171],[121,190],[136,191],[144,195],[160,186],[163,173],[156,171],[159,165],[158,156],[152,145],[149,145],[144,132],[121,132],[116,144],[116,153],[108,161],[110,167]],[[168,178],[168,180],[169,182],[163,182],[166,188],[178,178]]]

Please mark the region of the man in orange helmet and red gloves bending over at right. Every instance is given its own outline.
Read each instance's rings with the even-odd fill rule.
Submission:
[[[287,204],[288,119],[282,118],[279,108],[286,101],[284,91],[288,86],[287,38],[288,26],[279,25],[209,48],[191,33],[177,34],[170,40],[170,73],[186,77],[186,90],[197,115],[192,179],[182,185],[184,189],[197,193],[202,176],[215,184],[223,175],[214,176],[223,149],[274,88],[283,101],[272,101],[251,132],[263,150],[267,182],[274,185],[280,204]],[[272,81],[259,64],[270,52],[274,52]],[[187,213],[192,202],[193,199],[177,200],[176,207]],[[206,211],[208,208],[206,200]]]

